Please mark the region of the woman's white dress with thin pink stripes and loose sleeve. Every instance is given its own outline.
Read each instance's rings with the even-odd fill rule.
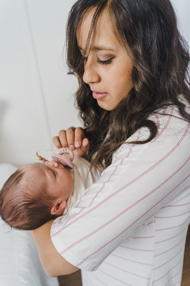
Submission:
[[[185,102],[185,101],[184,101]],[[189,104],[186,111],[189,113]],[[161,111],[162,112],[162,111]],[[181,285],[190,219],[190,122],[177,108],[149,116],[69,213],[52,224],[57,251],[81,269],[83,286]]]

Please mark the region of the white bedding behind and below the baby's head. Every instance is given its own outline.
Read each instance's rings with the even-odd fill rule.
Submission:
[[[11,164],[0,164],[0,190],[17,170]],[[9,231],[0,218],[0,285],[59,286],[58,278],[48,277],[41,265],[30,231]]]

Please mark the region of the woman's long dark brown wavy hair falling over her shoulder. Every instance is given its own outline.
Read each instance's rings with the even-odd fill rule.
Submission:
[[[89,54],[87,51],[93,44],[93,41],[89,44],[91,35],[94,39],[97,20],[105,11],[115,36],[118,32],[121,44],[133,59],[134,86],[111,111],[98,105],[89,85],[83,82],[84,58],[77,47],[76,29],[86,12],[93,8],[95,12],[84,54]],[[91,162],[89,170],[107,168],[113,152],[139,128],[147,127],[149,138],[130,143],[151,141],[158,127],[147,118],[156,110],[176,105],[182,119],[190,120],[185,104],[178,100],[178,95],[182,94],[190,103],[189,61],[189,47],[178,31],[177,17],[169,0],[78,0],[74,3],[66,27],[66,63],[68,74],[74,74],[79,82],[74,94],[75,108],[90,142],[86,157]]]

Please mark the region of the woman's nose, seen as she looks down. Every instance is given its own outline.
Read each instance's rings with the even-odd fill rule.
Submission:
[[[84,65],[84,74],[83,74],[83,81],[86,84],[91,84],[93,82],[99,82],[100,81],[100,76],[96,71],[96,67],[95,67],[95,63],[94,63],[94,59],[87,59],[85,65]]]

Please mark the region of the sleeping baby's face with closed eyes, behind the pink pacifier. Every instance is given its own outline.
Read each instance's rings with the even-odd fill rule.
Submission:
[[[22,167],[34,185],[47,186],[50,194],[67,200],[73,190],[73,178],[69,168],[54,160],[47,164],[33,163]]]

